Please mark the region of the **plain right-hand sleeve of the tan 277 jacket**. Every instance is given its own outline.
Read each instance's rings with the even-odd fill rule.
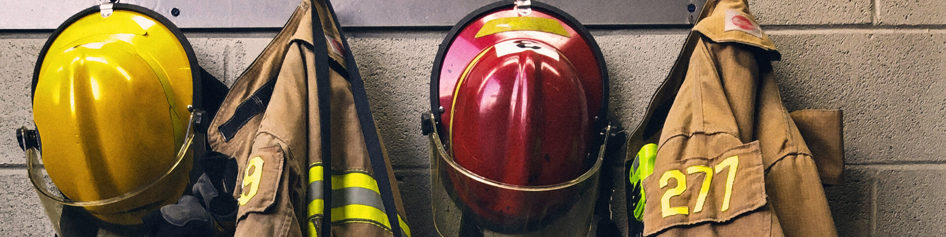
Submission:
[[[812,153],[781,103],[775,76],[763,75],[755,136],[765,158],[769,202],[785,236],[837,236]]]

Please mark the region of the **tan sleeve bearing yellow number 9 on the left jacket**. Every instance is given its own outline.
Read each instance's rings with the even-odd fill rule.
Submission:
[[[235,236],[303,236],[307,154],[307,70],[311,53],[292,44],[250,155],[237,158]],[[302,132],[300,132],[302,131]]]

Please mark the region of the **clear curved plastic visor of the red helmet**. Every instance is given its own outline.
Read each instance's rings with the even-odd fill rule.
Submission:
[[[513,185],[460,166],[441,142],[434,115],[425,116],[432,127],[431,205],[441,236],[587,236],[606,141],[594,165],[578,178],[546,186]]]

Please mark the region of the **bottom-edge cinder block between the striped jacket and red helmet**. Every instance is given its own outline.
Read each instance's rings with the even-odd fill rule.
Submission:
[[[430,174],[427,169],[395,170],[404,212],[412,236],[438,236],[430,209]]]

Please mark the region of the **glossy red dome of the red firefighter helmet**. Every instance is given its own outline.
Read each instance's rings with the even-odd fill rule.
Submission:
[[[590,166],[585,90],[551,45],[498,42],[465,70],[449,124],[454,159],[484,178],[543,186],[578,178]]]

